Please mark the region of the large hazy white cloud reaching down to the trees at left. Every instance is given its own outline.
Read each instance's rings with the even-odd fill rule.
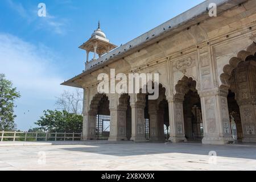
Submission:
[[[43,110],[56,108],[56,96],[64,90],[73,90],[60,85],[64,78],[56,59],[55,53],[46,46],[33,45],[0,32],[0,73],[13,81],[22,96],[16,101],[15,109],[18,129],[34,127]]]

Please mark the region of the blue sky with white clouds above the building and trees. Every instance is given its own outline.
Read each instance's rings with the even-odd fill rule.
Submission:
[[[38,4],[47,16],[38,16]],[[18,129],[35,127],[43,110],[71,90],[60,83],[84,69],[78,47],[97,28],[119,46],[174,18],[203,0],[47,0],[0,1],[0,73],[13,81]],[[29,111],[28,111],[29,110]]]

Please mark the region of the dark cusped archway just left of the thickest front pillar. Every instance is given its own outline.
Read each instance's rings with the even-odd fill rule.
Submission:
[[[197,82],[187,76],[175,85],[176,130],[177,133],[183,134],[186,140],[203,138],[201,100],[196,85]]]

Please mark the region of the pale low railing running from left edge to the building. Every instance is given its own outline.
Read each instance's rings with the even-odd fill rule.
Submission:
[[[18,131],[0,131],[0,141],[15,142],[16,139],[19,141],[65,141],[65,140],[81,140],[82,133],[43,133],[43,132],[18,132]]]

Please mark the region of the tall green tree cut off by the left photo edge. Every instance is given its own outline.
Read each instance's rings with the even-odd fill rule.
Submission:
[[[0,130],[14,130],[14,101],[20,94],[13,83],[0,74]]]

